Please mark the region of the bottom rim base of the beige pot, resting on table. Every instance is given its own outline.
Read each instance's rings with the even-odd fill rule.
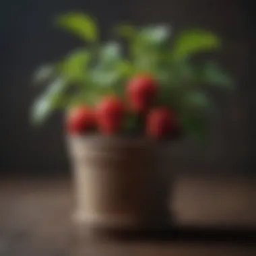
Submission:
[[[99,216],[76,212],[72,216],[80,238],[121,238],[136,236],[158,236],[172,230],[173,216],[168,212],[150,220],[137,220],[131,216]]]

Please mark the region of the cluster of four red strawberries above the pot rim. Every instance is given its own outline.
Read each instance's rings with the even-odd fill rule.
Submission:
[[[149,137],[176,137],[181,132],[179,122],[173,110],[156,104],[159,89],[152,75],[135,75],[126,86],[127,100],[107,95],[94,108],[84,105],[71,108],[67,130],[81,134],[97,127],[100,133],[113,135],[120,131],[127,113],[133,112],[144,117],[144,131]]]

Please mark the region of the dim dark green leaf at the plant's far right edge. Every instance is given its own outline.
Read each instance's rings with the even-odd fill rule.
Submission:
[[[224,89],[232,89],[234,82],[216,63],[206,63],[203,67],[203,82]]]

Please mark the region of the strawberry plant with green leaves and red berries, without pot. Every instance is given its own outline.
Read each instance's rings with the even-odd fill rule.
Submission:
[[[165,25],[122,24],[113,31],[126,40],[124,47],[117,40],[101,42],[96,20],[84,13],[59,15],[56,25],[84,46],[36,71],[35,82],[45,86],[32,108],[36,124],[64,110],[70,133],[134,132],[156,139],[183,134],[202,141],[214,109],[207,90],[232,88],[218,64],[195,59],[221,49],[210,31],[172,36]]]

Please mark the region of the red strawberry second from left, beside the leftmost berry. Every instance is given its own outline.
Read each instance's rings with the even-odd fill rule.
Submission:
[[[102,133],[117,132],[125,115],[125,106],[116,96],[106,96],[96,107],[98,127]]]

